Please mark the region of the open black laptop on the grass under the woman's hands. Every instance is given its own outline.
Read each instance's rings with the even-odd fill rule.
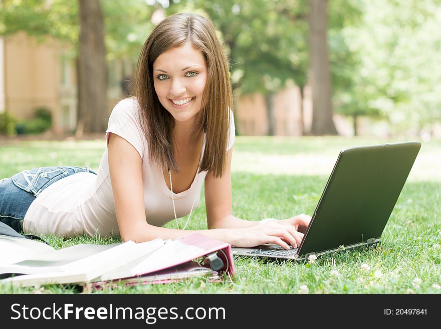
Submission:
[[[379,243],[420,147],[406,142],[342,150],[298,248],[265,244],[233,247],[233,254],[300,260]]]

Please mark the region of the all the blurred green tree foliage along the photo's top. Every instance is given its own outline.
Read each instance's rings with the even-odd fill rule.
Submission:
[[[214,23],[231,58],[236,95],[273,95],[288,80],[308,82],[308,0],[102,1],[107,60],[136,62],[152,14],[198,12]],[[328,47],[335,112],[388,118],[392,132],[441,121],[441,1],[328,1]],[[25,31],[73,45],[78,3],[3,0],[0,35]]]

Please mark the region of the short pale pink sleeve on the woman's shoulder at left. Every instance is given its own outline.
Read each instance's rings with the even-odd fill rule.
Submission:
[[[109,144],[110,133],[124,138],[138,151],[141,159],[146,149],[145,137],[138,118],[139,105],[135,99],[123,99],[112,110],[106,130]]]

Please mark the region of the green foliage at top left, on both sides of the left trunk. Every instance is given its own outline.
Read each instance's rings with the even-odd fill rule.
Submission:
[[[107,57],[136,58],[153,29],[150,17],[154,8],[139,0],[102,1],[101,6]],[[24,31],[39,41],[53,37],[73,45],[73,56],[78,55],[80,21],[77,1],[3,0],[0,9],[0,35]]]

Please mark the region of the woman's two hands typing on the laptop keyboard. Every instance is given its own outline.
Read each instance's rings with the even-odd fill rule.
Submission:
[[[275,243],[284,249],[289,249],[289,245],[297,248],[310,221],[310,216],[301,214],[285,220],[269,221],[262,225],[231,229],[228,240],[237,247]]]

